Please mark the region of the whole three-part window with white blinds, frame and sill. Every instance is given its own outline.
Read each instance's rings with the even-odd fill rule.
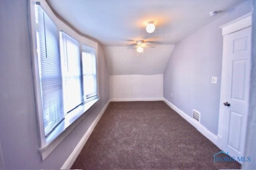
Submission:
[[[82,45],[64,31],[59,31],[40,2],[33,5],[39,152],[44,160],[81,121],[76,119],[84,117],[98,103],[97,60],[95,48]],[[58,137],[60,135],[62,137]]]

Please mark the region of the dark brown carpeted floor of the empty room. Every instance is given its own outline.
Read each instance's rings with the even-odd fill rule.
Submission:
[[[72,169],[239,169],[162,101],[111,102]]]

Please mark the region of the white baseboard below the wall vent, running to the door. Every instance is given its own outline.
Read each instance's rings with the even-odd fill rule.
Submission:
[[[207,139],[209,139],[212,143],[218,146],[218,137],[214,133],[210,132],[206,127],[204,127],[201,123],[195,121],[192,117],[184,113],[177,106],[169,102],[166,98],[164,98],[164,102],[174,109],[181,117],[183,117],[188,123],[193,125],[200,133],[202,133]]]

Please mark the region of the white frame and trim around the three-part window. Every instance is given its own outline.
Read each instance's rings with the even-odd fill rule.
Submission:
[[[100,93],[99,93],[99,85],[98,85],[98,43],[87,39],[86,37],[79,35],[73,29],[71,29],[66,23],[59,20],[55,14],[52,12],[50,7],[43,0],[30,0],[28,5],[28,13],[29,13],[29,35],[30,35],[30,47],[31,47],[31,57],[32,57],[32,74],[34,79],[34,94],[35,94],[35,104],[36,104],[36,119],[38,126],[38,141],[39,141],[39,153],[41,155],[42,160],[44,160],[67,136],[78,123],[99,103],[100,101]],[[53,133],[51,133],[47,138],[44,134],[44,119],[42,112],[42,96],[41,96],[41,84],[40,84],[40,74],[39,74],[39,65],[38,65],[38,57],[40,57],[37,53],[37,42],[36,42],[36,14],[35,14],[35,5],[40,5],[40,7],[44,10],[44,12],[48,15],[48,17],[56,24],[58,31],[58,42],[60,49],[60,31],[65,31],[65,33],[72,33],[74,39],[77,39],[79,42],[79,50],[80,50],[80,61],[82,61],[82,44],[91,46],[93,45],[96,50],[96,77],[97,77],[97,98],[94,100],[86,101],[83,103],[82,107],[78,107],[76,111],[71,111],[67,115],[70,116],[70,119],[67,121],[62,121]],[[60,29],[62,28],[62,29]],[[82,63],[81,63],[81,73],[82,73]],[[83,86],[83,78],[82,86]],[[63,86],[63,85],[62,85]],[[65,125],[66,124],[66,125]],[[85,132],[86,133],[86,132]]]

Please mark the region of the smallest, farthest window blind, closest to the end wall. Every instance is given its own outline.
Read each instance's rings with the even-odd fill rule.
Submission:
[[[86,45],[82,46],[82,63],[84,78],[84,98],[96,98],[97,76],[96,76],[96,53],[95,49]]]

